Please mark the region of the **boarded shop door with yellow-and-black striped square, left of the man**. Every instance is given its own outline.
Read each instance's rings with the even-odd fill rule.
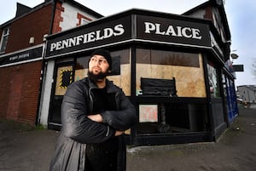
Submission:
[[[61,102],[69,84],[73,83],[73,64],[71,62],[55,65],[54,83],[49,111],[49,128],[61,128]]]

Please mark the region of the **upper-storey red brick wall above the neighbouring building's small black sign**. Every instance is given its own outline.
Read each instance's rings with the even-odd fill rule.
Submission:
[[[5,53],[44,43],[44,35],[50,32],[51,14],[52,5],[49,4],[19,20],[15,20],[10,26],[9,40]],[[29,44],[30,37],[35,37],[34,44]]]

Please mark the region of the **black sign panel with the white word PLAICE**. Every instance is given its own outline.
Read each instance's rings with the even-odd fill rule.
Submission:
[[[137,15],[137,38],[211,47],[207,24]]]

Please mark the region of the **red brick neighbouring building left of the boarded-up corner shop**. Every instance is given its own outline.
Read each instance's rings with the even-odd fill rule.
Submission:
[[[17,3],[15,18],[0,25],[0,118],[39,122],[45,37],[99,18],[73,0],[45,0],[34,8]]]

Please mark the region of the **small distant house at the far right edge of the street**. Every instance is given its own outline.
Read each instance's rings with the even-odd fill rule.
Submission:
[[[256,85],[237,86],[240,99],[247,103],[256,103]]]

